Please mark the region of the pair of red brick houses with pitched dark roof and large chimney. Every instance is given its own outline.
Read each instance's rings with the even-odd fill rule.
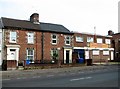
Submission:
[[[3,34],[2,60],[7,60],[7,68],[15,68],[19,62],[30,60],[40,62],[56,59],[72,63],[72,35],[59,24],[39,22],[34,13],[30,21],[1,18]]]

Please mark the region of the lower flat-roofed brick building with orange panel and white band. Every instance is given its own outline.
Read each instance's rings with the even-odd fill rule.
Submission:
[[[113,60],[114,49],[111,47],[111,36],[86,33],[74,33],[74,52],[79,59],[92,59],[93,63],[106,63]]]

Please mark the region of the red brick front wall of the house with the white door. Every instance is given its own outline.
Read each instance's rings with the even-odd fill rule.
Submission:
[[[12,30],[6,30],[5,32],[5,45],[20,45],[19,60],[26,59],[26,49],[34,48],[34,59],[41,59],[41,32],[29,31],[29,30],[13,30],[17,32],[17,43],[9,43],[9,34]],[[27,43],[27,32],[34,32],[34,44]]]

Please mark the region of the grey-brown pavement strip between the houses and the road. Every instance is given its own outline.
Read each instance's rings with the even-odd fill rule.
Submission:
[[[57,73],[69,73],[77,71],[97,70],[110,68],[112,65],[93,65],[93,66],[78,66],[78,67],[65,67],[65,68],[51,68],[51,69],[34,69],[34,70],[9,70],[1,71],[2,79],[14,79],[14,78],[25,78],[40,76],[46,74],[57,74]]]

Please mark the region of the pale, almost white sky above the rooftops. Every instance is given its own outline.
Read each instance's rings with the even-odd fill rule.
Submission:
[[[107,35],[118,33],[120,0],[0,0],[0,17],[61,24],[70,31]],[[96,29],[94,29],[96,28]]]

